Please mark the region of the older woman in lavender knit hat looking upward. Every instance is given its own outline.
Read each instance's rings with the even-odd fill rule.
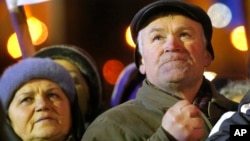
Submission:
[[[7,126],[21,140],[77,141],[84,132],[74,82],[51,59],[28,58],[7,68],[0,99]]]

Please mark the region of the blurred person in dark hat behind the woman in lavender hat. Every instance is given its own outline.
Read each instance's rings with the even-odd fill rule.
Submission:
[[[85,128],[101,109],[102,85],[97,65],[85,50],[73,45],[52,45],[36,52],[35,57],[49,57],[70,72],[75,82]]]

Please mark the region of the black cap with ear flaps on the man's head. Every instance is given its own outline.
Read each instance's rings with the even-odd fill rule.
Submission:
[[[148,20],[160,14],[162,12],[176,12],[191,18],[194,21],[199,22],[204,30],[204,34],[207,40],[207,50],[211,54],[212,58],[214,59],[214,51],[211,44],[213,27],[211,20],[207,13],[200,7],[180,1],[180,0],[158,0],[155,1],[141,10],[139,10],[134,18],[131,21],[131,34],[132,38],[136,44],[135,50],[135,63],[137,67],[141,64],[141,55],[138,50],[138,43],[137,43],[137,36],[141,29],[143,29],[147,24],[149,24]]]

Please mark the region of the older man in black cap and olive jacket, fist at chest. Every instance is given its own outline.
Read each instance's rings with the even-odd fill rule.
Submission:
[[[134,16],[131,31],[135,62],[146,79],[135,100],[100,115],[82,140],[205,140],[224,112],[237,109],[203,76],[214,59],[206,12],[159,0]]]

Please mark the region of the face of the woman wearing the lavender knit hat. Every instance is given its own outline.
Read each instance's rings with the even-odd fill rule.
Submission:
[[[31,80],[20,87],[8,115],[22,140],[65,140],[71,128],[68,98],[56,83],[45,79]]]

